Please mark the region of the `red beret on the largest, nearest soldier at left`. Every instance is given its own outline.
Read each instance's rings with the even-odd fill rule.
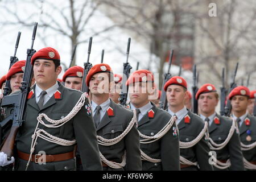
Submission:
[[[60,55],[56,49],[53,49],[51,47],[46,47],[46,48],[42,48],[38,52],[34,53],[34,55],[31,57],[32,65],[34,65],[34,61],[36,59],[60,61]]]

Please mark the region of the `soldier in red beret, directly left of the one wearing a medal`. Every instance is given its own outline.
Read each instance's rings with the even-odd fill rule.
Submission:
[[[196,93],[196,100],[198,100],[200,117],[208,122],[210,149],[216,152],[218,162],[213,164],[214,170],[243,171],[243,155],[236,123],[216,113],[218,93],[215,86],[212,84],[201,86]]]

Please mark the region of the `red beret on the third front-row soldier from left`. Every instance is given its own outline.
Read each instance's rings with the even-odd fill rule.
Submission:
[[[147,69],[139,69],[133,73],[126,81],[126,85],[133,84],[134,82],[154,82],[154,75]]]

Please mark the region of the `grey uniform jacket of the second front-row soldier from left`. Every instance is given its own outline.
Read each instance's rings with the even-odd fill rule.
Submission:
[[[133,118],[133,111],[126,107],[115,104],[110,100],[111,109],[106,111],[101,119],[96,131],[97,135],[105,139],[118,137],[125,131]],[[121,163],[124,152],[126,151],[126,170],[141,170],[141,151],[139,150],[139,133],[134,125],[129,133],[118,143],[112,146],[102,146],[99,144],[101,154],[106,159]],[[104,167],[104,170],[123,170]]]

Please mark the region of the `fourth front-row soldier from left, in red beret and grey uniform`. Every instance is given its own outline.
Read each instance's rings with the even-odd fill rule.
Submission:
[[[187,82],[183,77],[174,76],[166,82],[164,90],[169,104],[168,113],[177,117],[181,171],[213,170],[209,164],[207,123],[184,105],[184,98],[188,94]]]

